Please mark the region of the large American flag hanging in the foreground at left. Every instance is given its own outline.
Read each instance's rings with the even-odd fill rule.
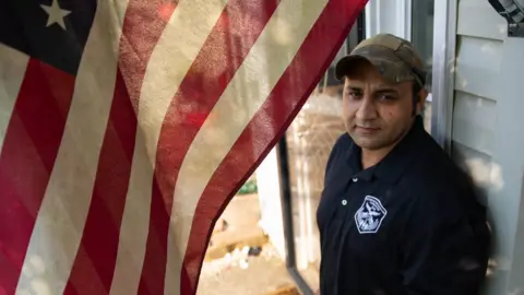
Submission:
[[[195,294],[366,0],[1,0],[0,294]]]

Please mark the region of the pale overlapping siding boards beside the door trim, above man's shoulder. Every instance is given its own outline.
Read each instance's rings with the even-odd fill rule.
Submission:
[[[505,34],[493,27],[505,30],[503,25],[504,20],[488,1],[458,1],[451,145],[452,156],[469,169],[472,157],[479,156],[489,166],[493,153],[500,90],[487,81],[496,81],[500,74]],[[474,178],[478,176],[472,174]]]

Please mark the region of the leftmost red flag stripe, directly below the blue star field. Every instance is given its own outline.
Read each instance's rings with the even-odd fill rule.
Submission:
[[[0,155],[0,286],[8,294],[16,290],[73,88],[74,76],[29,59]]]

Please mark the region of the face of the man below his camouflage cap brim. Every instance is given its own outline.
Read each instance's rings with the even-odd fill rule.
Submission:
[[[420,93],[420,97],[422,93]],[[410,129],[413,82],[392,84],[385,81],[368,61],[356,61],[346,75],[343,95],[343,117],[355,143],[366,150],[394,146]],[[419,99],[416,113],[424,106]]]

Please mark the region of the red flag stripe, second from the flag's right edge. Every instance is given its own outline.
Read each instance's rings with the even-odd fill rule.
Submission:
[[[152,199],[139,294],[164,293],[172,193],[182,160],[202,118],[209,116],[277,4],[277,0],[228,1],[169,106],[158,142],[155,175],[160,189]]]

